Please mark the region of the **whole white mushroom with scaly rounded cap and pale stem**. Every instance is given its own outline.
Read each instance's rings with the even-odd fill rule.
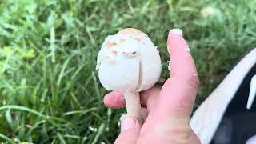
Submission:
[[[127,114],[143,122],[139,92],[154,86],[162,70],[150,38],[133,28],[108,36],[98,53],[96,69],[102,86],[122,90]]]

